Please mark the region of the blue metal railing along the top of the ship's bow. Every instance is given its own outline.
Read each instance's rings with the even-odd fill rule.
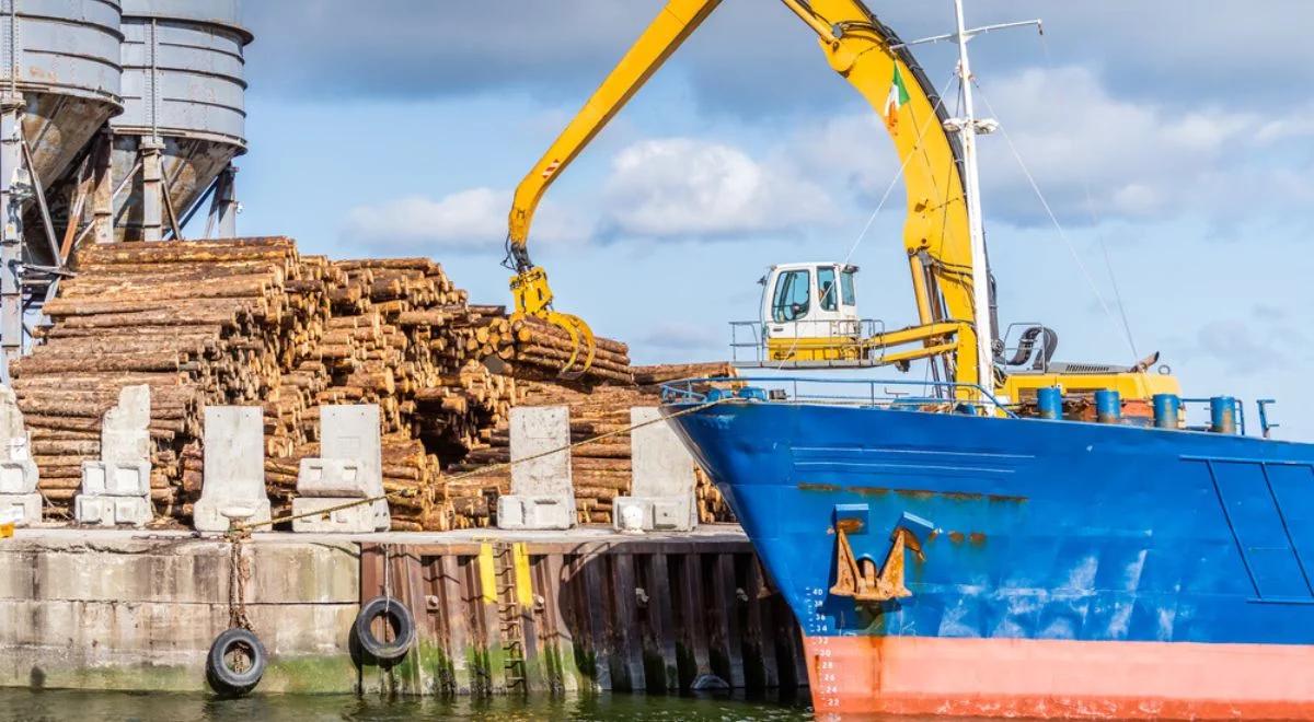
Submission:
[[[802,377],[691,378],[662,385],[662,403],[698,404],[736,395],[769,403],[861,406],[929,414],[989,415],[1016,419],[993,394],[976,383],[908,379]]]

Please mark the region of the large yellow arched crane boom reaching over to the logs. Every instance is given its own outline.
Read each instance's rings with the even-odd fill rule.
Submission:
[[[926,328],[957,328],[951,373],[976,383],[971,236],[967,223],[962,154],[942,127],[934,87],[901,49],[901,42],[857,0],[782,0],[819,37],[830,67],[845,77],[886,121],[903,163],[908,196],[904,245],[913,274],[918,322]],[[516,312],[544,318],[585,336],[591,362],[591,333],[578,318],[552,310],[552,291],[528,253],[533,211],[544,192],[590,140],[624,108],[668,58],[720,5],[720,0],[669,0],[585,106],[562,130],[516,188],[509,218],[507,252]],[[957,324],[957,326],[953,326]],[[908,336],[900,336],[908,337]],[[913,333],[941,353],[947,339]],[[578,366],[577,358],[566,364]]]

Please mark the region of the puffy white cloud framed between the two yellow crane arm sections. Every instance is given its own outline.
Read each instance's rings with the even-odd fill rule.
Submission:
[[[612,234],[648,238],[795,231],[834,214],[825,190],[790,164],[692,138],[624,148],[604,196]]]

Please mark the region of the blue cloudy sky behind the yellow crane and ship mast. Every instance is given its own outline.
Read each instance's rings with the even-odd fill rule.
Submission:
[[[905,39],[953,22],[950,0],[867,4]],[[247,0],[239,231],[431,256],[472,301],[509,303],[514,188],[661,5]],[[1275,396],[1275,435],[1314,440],[1314,3],[967,16],[1045,22],[972,42],[979,114],[1003,129],[982,139],[1003,326],[1058,329],[1058,360],[1158,350],[1188,396]],[[916,53],[947,87],[953,47]],[[897,328],[916,318],[901,186],[879,202],[897,167],[809,29],[724,0],[549,189],[530,248],[557,308],[636,362],[727,358],[777,263],[851,257],[859,311]]]

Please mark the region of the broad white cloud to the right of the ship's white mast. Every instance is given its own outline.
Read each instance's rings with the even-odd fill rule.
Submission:
[[[1122,97],[1084,67],[1028,70],[987,84],[983,96],[1008,134],[982,142],[987,214],[1021,223],[1047,218],[1009,139],[1059,219],[1076,224],[1219,219],[1289,202],[1276,180],[1298,155],[1265,151],[1309,131],[1306,110],[1275,118],[1212,105],[1173,109]]]

